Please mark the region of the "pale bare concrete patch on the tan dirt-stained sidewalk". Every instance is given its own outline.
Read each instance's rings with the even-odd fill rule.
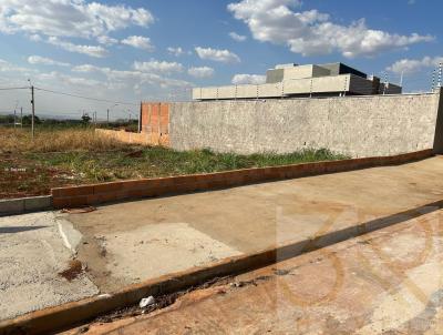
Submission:
[[[130,282],[159,277],[240,254],[186,223],[146,225],[105,234],[99,240],[110,260],[107,270],[113,276]]]

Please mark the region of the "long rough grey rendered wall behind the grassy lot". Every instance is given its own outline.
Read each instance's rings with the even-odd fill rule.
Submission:
[[[439,102],[440,92],[173,103],[169,141],[177,150],[244,154],[327,148],[353,158],[394,155],[439,145]]]

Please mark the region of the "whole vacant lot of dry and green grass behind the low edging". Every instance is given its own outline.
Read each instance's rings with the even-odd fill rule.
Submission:
[[[237,155],[127,145],[93,129],[0,128],[0,197],[49,194],[51,187],[343,159],[328,150]]]

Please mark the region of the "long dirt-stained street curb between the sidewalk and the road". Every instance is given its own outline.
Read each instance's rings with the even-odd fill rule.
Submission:
[[[79,302],[32,312],[13,319],[0,322],[0,335],[53,334],[82,322],[91,321],[111,311],[135,305],[143,297],[150,295],[171,294],[195,287],[217,277],[238,275],[268,266],[307,252],[419,217],[442,207],[443,201],[439,201],[388,217],[359,223],[334,232],[326,232],[323,235],[313,238],[274,246],[253,254],[225,258],[206,267],[194,267],[184,272],[164,275],[127,286],[113,294],[102,294]]]

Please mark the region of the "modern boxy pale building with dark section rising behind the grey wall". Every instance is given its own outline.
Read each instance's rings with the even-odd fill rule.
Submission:
[[[193,100],[276,99],[400,94],[402,88],[343,63],[279,64],[266,73],[264,84],[196,88]]]

